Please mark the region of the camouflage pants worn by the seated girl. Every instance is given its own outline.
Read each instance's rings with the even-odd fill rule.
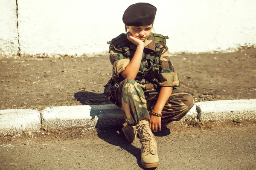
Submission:
[[[148,111],[154,108],[159,92],[160,90],[155,89],[145,91],[145,85],[137,83],[134,79],[125,79],[120,82],[111,97],[117,102],[116,105],[121,105],[125,121],[134,126],[141,120],[149,120]],[[163,108],[161,123],[167,125],[180,120],[193,105],[194,100],[190,94],[172,93]]]

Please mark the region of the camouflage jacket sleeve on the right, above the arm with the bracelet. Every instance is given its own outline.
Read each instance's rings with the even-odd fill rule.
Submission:
[[[160,86],[169,86],[169,87],[179,87],[180,80],[177,73],[175,73],[172,62],[169,57],[168,47],[165,46],[163,51],[160,54],[160,63],[159,63],[159,77],[160,77]]]

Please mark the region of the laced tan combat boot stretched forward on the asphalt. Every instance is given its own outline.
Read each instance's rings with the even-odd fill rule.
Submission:
[[[157,155],[157,141],[154,134],[149,128],[149,123],[146,120],[138,122],[133,126],[138,132],[141,143],[141,164],[145,168],[157,167],[159,159]]]

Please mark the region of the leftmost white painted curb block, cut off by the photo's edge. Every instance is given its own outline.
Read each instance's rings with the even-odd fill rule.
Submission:
[[[0,110],[0,133],[13,134],[41,128],[39,111],[31,109]]]

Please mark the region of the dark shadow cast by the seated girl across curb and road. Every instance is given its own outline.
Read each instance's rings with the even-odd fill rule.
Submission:
[[[95,116],[97,116],[98,118],[95,128],[97,130],[99,138],[104,140],[105,142],[108,142],[109,144],[119,146],[120,149],[117,150],[119,152],[121,152],[122,150],[126,150],[128,153],[131,153],[137,159],[138,166],[144,169],[140,161],[141,149],[133,146],[133,144],[128,143],[124,133],[122,132],[121,128],[122,124],[125,122],[125,119],[122,116],[121,109],[113,105],[113,103],[109,101],[104,96],[104,94],[96,94],[92,92],[83,91],[75,93],[74,97],[82,105],[91,106],[90,116],[92,116],[92,118],[95,118]],[[111,105],[104,105],[103,110],[101,109],[101,107],[103,107],[102,103]],[[104,115],[106,113],[108,115]],[[113,116],[116,116],[115,120],[113,120]],[[106,122],[108,121],[111,121],[110,124],[112,126],[106,125]],[[167,136],[169,134],[170,129],[165,125],[162,126],[161,131],[154,133],[155,136]]]

